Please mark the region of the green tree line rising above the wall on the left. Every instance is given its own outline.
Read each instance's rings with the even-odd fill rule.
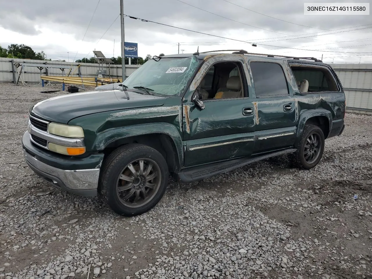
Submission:
[[[0,45],[0,57],[7,57],[7,58],[21,58],[21,59],[35,59],[35,60],[49,60],[47,59],[47,54],[45,54],[44,51],[41,52],[35,52],[31,47],[24,45],[24,44],[11,44],[8,46],[8,48],[2,48]],[[147,54],[145,59],[142,57],[138,58],[131,58],[131,64],[139,64],[142,65],[147,60],[151,59],[151,55]],[[113,62],[113,64],[121,64],[121,56],[118,57],[111,57],[110,58]],[[61,61],[61,60],[58,60]],[[62,60],[66,61],[66,60]],[[90,58],[82,58],[75,60],[75,62],[78,63],[97,63],[94,60],[94,57]],[[125,57],[125,64],[129,64],[129,58]]]

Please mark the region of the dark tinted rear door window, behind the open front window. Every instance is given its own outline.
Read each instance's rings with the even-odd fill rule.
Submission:
[[[282,67],[271,62],[250,62],[257,97],[280,96],[288,93]]]

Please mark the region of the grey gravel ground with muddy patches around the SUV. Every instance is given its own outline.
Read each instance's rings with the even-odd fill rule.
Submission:
[[[153,210],[123,218],[24,162],[29,107],[61,94],[40,91],[0,85],[0,278],[372,278],[372,116],[347,114],[312,170],[282,156],[170,180]]]

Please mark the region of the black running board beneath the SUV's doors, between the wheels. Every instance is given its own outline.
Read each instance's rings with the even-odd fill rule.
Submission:
[[[230,161],[224,161],[224,162],[219,162],[219,163],[211,163],[207,165],[202,165],[202,166],[196,166],[196,167],[189,167],[187,169],[181,170],[179,173],[177,173],[177,180],[180,182],[193,182],[193,181],[198,181],[202,179],[206,179],[211,176],[215,176],[217,174],[221,173],[226,173],[228,171],[237,169],[239,167],[246,166],[248,164],[261,161],[270,157],[275,157],[279,155],[283,155],[286,153],[292,153],[297,151],[295,148],[291,149],[286,149],[286,150],[281,150],[277,151],[274,153],[254,157],[254,158],[249,158],[247,159],[246,157],[244,158],[238,158]]]

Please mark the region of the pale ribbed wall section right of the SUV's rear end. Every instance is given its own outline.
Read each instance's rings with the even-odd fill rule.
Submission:
[[[372,115],[372,64],[330,64],[340,78],[348,112]]]

